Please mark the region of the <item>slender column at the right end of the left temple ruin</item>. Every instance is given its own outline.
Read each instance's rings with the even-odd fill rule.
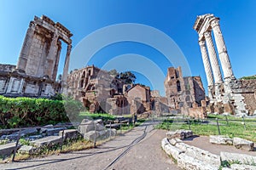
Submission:
[[[67,86],[67,74],[68,74],[68,66],[69,66],[71,48],[72,48],[72,45],[68,44],[65,65],[63,68],[62,79],[61,79],[62,93],[64,93],[64,94],[66,93],[65,90],[67,89],[67,87],[66,87]]]

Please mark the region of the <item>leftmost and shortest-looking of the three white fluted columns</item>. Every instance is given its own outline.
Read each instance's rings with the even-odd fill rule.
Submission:
[[[212,77],[210,61],[208,59],[208,54],[207,54],[206,41],[201,40],[199,42],[199,45],[200,45],[200,49],[201,49],[201,57],[202,57],[206,75],[207,75],[208,86],[212,86],[213,85],[213,77]]]

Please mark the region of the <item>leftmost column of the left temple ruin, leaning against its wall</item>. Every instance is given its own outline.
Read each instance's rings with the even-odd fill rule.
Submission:
[[[27,57],[29,55],[29,50],[31,48],[34,32],[35,32],[35,23],[30,22],[29,28],[26,31],[26,37],[24,39],[24,42],[23,42],[23,45],[22,45],[22,48],[20,51],[19,61],[16,66],[16,68],[18,70],[25,71],[25,69],[26,69],[26,61],[27,61]]]

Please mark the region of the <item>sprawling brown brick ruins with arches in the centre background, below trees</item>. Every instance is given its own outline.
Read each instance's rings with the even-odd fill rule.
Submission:
[[[150,111],[150,89],[125,83],[94,65],[72,71],[67,77],[67,94],[83,102],[90,112],[113,115]]]

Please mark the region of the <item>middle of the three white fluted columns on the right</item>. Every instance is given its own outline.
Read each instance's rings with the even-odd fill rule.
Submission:
[[[214,81],[215,83],[221,83],[222,81],[222,76],[221,76],[221,72],[219,69],[219,65],[218,65],[218,59],[217,59],[217,54],[212,42],[212,36],[211,36],[211,32],[210,31],[206,31],[204,33],[204,36],[206,38],[206,42],[207,42],[207,48],[208,48],[208,53],[209,53],[209,59],[212,65],[212,72],[213,72],[213,77],[214,77]]]

